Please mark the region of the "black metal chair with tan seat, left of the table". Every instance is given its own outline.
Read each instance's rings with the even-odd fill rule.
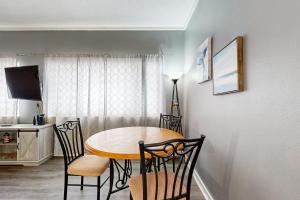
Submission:
[[[68,186],[97,187],[97,200],[100,199],[100,176],[108,168],[109,159],[95,155],[84,155],[83,137],[80,120],[66,121],[56,126],[53,125],[57,138],[62,148],[65,164],[64,200],[67,199]],[[81,184],[69,184],[69,176],[81,176]],[[85,185],[84,176],[97,177],[97,185]]]

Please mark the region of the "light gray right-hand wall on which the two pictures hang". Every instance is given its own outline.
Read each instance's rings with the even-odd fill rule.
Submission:
[[[215,199],[300,199],[300,1],[200,0],[185,35],[185,129],[207,136],[197,170]],[[245,37],[246,91],[196,84],[197,46]]]

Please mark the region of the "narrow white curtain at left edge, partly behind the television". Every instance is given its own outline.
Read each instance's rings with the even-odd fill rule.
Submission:
[[[0,57],[0,123],[17,122],[17,101],[8,98],[4,71],[4,68],[13,67],[16,65],[16,58]]]

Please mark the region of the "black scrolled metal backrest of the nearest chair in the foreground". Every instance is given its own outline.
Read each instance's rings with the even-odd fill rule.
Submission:
[[[152,173],[155,174],[155,181],[152,180],[152,183],[155,185],[151,187],[155,187],[155,200],[181,198],[189,200],[193,171],[204,139],[205,136],[201,135],[197,139],[174,139],[154,144],[144,144],[143,141],[140,141],[143,200],[147,200],[147,171],[149,171],[149,167],[152,168],[152,165],[154,166],[154,172]],[[157,159],[162,162],[163,169],[160,169],[160,171],[158,171]],[[176,159],[176,170],[174,172],[167,166],[170,159]],[[164,180],[158,180],[161,177]],[[164,183],[159,186],[158,183],[162,183],[162,181]],[[170,188],[168,190],[170,184],[172,185],[171,191]],[[158,198],[158,191],[162,190],[161,187],[164,187],[163,196]]]

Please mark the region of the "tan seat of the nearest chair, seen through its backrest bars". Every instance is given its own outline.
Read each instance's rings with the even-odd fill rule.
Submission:
[[[158,172],[158,192],[157,192],[157,199],[162,200],[164,199],[165,194],[165,172]],[[167,172],[167,199],[172,198],[172,191],[173,191],[173,183],[175,179],[175,174],[173,172]],[[147,200],[155,200],[155,173],[147,173]],[[141,200],[143,199],[143,181],[142,175],[131,177],[129,180],[129,188],[134,200]],[[176,185],[175,185],[175,196],[179,195],[180,190],[180,177],[177,177]],[[185,193],[186,188],[182,186],[182,192]],[[185,199],[185,198],[182,198]]]

